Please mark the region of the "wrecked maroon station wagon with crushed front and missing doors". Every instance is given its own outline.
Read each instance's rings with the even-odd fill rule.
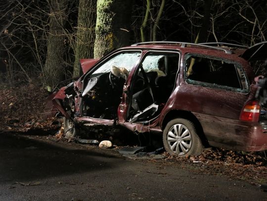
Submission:
[[[199,155],[209,146],[267,150],[250,63],[266,44],[133,44],[81,60],[84,75],[61,88],[53,104],[67,137],[93,123],[160,134],[172,155]]]

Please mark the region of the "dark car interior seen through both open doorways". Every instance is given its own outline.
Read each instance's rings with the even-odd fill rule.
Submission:
[[[147,54],[137,67],[129,95],[129,122],[156,118],[170,97],[178,72],[178,53]],[[105,68],[107,69],[107,68]],[[131,71],[122,65],[111,65],[108,71],[95,71],[84,79],[82,115],[113,120],[123,94],[123,86]]]

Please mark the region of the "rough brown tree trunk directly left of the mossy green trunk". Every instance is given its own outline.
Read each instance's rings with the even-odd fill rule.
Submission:
[[[78,30],[76,36],[76,55],[73,76],[81,75],[80,59],[93,58],[95,39],[96,1],[80,0],[78,15]]]

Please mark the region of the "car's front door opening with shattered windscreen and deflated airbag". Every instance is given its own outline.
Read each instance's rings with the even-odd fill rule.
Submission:
[[[118,120],[124,86],[140,59],[141,51],[118,51],[99,61],[80,82],[76,121],[114,125]],[[94,61],[93,61],[94,62]],[[128,78],[129,77],[129,78]]]

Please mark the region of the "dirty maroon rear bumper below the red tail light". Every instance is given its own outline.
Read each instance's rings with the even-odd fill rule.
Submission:
[[[211,146],[240,151],[267,150],[267,123],[195,114]]]

